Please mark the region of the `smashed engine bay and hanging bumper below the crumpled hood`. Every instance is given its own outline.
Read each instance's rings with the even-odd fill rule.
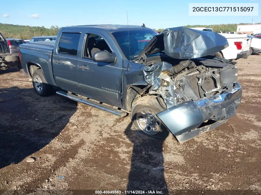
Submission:
[[[157,116],[180,143],[225,123],[241,102],[237,67],[217,59],[181,61],[162,71],[160,86],[149,91],[163,98],[167,109]]]

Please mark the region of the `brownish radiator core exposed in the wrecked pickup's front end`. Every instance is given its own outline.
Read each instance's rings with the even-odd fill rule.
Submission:
[[[197,96],[199,98],[202,98],[200,96],[200,93],[201,94],[204,94],[205,92],[203,91],[203,89],[201,89],[200,87],[200,91],[199,91],[199,86],[198,86],[198,82],[199,82],[199,78],[197,78],[197,75],[199,74],[194,74],[194,75],[187,75],[187,79],[188,79],[188,82],[189,84],[191,85],[192,89],[196,92]],[[203,86],[202,86],[206,91],[209,91],[209,90],[212,90],[212,89],[215,89],[215,83],[214,83],[214,80],[213,78],[211,79],[204,79],[204,82],[203,82]],[[203,96],[204,97],[204,96]]]

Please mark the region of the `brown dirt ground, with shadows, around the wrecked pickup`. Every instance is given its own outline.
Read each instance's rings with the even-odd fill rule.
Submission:
[[[0,194],[261,193],[261,55],[235,62],[237,113],[184,144],[136,132],[130,116],[40,97],[21,71],[1,71]]]

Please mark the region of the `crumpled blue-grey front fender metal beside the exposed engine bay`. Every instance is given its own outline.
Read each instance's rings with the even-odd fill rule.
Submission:
[[[158,62],[152,66],[143,68],[143,74],[147,83],[152,83],[152,90],[157,90],[160,87],[160,78],[158,77],[162,71],[169,69],[172,65],[168,62]]]

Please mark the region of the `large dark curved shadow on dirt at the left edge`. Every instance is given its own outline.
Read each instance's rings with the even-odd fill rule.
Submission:
[[[0,89],[0,169],[19,163],[50,143],[69,122],[77,102],[33,88]]]

